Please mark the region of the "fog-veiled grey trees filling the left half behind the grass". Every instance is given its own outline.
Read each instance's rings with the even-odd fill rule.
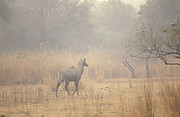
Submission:
[[[92,6],[90,0],[16,1],[11,25],[2,30],[0,48],[4,51],[33,49],[43,42],[47,49],[85,50],[91,44]]]

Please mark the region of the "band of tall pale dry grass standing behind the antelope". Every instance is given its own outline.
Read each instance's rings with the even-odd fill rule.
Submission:
[[[110,51],[90,50],[86,54],[74,54],[65,50],[61,52],[28,51],[0,56],[0,85],[49,84],[50,81],[56,79],[58,70],[77,65],[81,57],[86,57],[89,64],[87,72],[84,72],[89,79],[96,79],[98,82],[102,82],[104,78],[131,77],[130,72],[122,64],[122,59]],[[142,60],[131,60],[130,64],[134,66],[136,76],[145,76],[145,67]],[[160,64],[159,66],[162,65]],[[157,64],[150,64],[150,68],[152,74],[155,72],[159,74],[156,69]],[[165,68],[161,67],[163,70]],[[179,73],[177,69],[175,68],[175,71],[173,71],[174,74]],[[169,73],[168,70],[164,71],[164,73]],[[157,77],[158,75],[156,74],[154,75]]]

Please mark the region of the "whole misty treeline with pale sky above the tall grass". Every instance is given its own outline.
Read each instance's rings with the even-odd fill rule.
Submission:
[[[0,53],[40,46],[122,53],[142,25],[158,32],[179,11],[179,0],[1,0]]]

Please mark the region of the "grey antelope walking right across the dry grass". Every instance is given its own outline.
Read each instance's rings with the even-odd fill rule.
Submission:
[[[77,66],[73,66],[73,67],[70,67],[69,69],[65,69],[65,70],[58,72],[58,84],[56,87],[56,97],[57,97],[57,93],[58,93],[58,88],[61,85],[61,83],[64,81],[65,81],[65,89],[69,95],[70,95],[70,93],[68,90],[68,85],[69,85],[69,82],[71,82],[71,81],[73,81],[76,86],[76,90],[73,92],[73,95],[76,92],[77,92],[77,95],[79,95],[78,85],[79,85],[79,81],[81,79],[81,75],[83,74],[83,71],[84,71],[84,66],[85,67],[88,66],[85,58],[81,59]]]

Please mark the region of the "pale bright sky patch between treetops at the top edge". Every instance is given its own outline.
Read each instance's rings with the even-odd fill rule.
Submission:
[[[97,0],[97,1],[105,1],[105,0]],[[132,4],[134,8],[139,9],[140,5],[145,4],[145,0],[121,0],[125,3]]]

